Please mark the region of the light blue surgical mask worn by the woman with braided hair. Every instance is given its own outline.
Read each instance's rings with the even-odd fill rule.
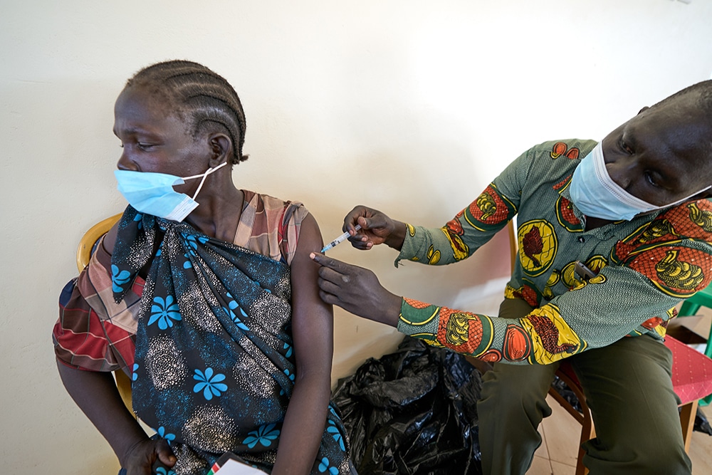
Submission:
[[[195,198],[208,175],[224,165],[227,165],[227,162],[192,177],[176,177],[166,173],[132,172],[130,170],[116,170],[114,175],[116,181],[119,182],[117,189],[138,212],[180,222],[198,207]],[[194,178],[202,179],[193,197],[173,189],[174,185],[183,184],[186,180]]]

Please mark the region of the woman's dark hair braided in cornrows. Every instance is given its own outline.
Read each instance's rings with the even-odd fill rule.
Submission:
[[[218,125],[232,139],[233,164],[244,162],[245,113],[234,88],[221,75],[192,61],[164,61],[142,69],[126,87],[141,85],[177,108],[194,136]]]

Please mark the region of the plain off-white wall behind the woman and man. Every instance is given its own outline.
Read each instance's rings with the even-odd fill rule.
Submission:
[[[0,471],[115,474],[56,374],[51,328],[85,229],[125,204],[112,107],[126,78],[204,63],[241,96],[241,187],[304,202],[325,239],[355,204],[440,226],[520,152],[601,138],[710,77],[712,1],[1,1]],[[333,256],[396,293],[491,311],[506,239],[459,266]],[[461,289],[466,291],[461,292]],[[397,333],[336,312],[334,379]]]

